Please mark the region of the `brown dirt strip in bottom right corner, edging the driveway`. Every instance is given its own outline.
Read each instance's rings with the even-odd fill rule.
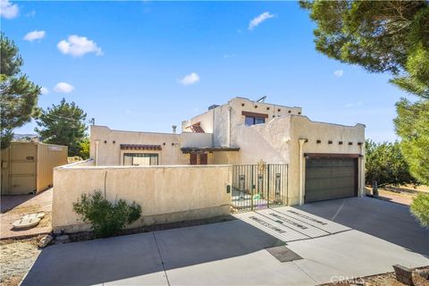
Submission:
[[[429,271],[429,266],[418,268],[418,271]],[[425,280],[416,271],[413,272],[413,282],[415,286],[428,286],[429,281]],[[351,286],[351,285],[365,285],[365,286],[404,286],[405,284],[396,280],[394,272],[383,273],[374,276],[367,276],[362,278],[349,279],[347,282],[332,282],[323,284],[323,286]]]

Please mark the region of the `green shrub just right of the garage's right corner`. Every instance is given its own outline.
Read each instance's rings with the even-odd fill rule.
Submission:
[[[400,150],[400,143],[374,143],[366,140],[366,174],[365,181],[378,185],[401,185],[418,183],[409,172],[409,166]]]

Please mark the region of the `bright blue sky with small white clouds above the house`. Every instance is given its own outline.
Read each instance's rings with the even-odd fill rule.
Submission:
[[[74,101],[97,125],[171,132],[232,97],[300,106],[318,122],[363,123],[397,139],[388,81],[315,51],[296,2],[25,2],[1,0],[1,30],[21,71],[43,87],[38,105]],[[35,133],[35,122],[14,130]]]

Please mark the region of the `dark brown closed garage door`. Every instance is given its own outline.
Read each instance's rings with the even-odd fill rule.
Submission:
[[[357,196],[357,158],[310,157],[305,202]]]

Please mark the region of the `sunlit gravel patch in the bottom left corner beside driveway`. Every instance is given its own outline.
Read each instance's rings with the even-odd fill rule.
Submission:
[[[41,250],[37,243],[40,237],[28,240],[2,240],[1,248],[1,278],[2,286],[19,285],[22,277],[29,272]]]

